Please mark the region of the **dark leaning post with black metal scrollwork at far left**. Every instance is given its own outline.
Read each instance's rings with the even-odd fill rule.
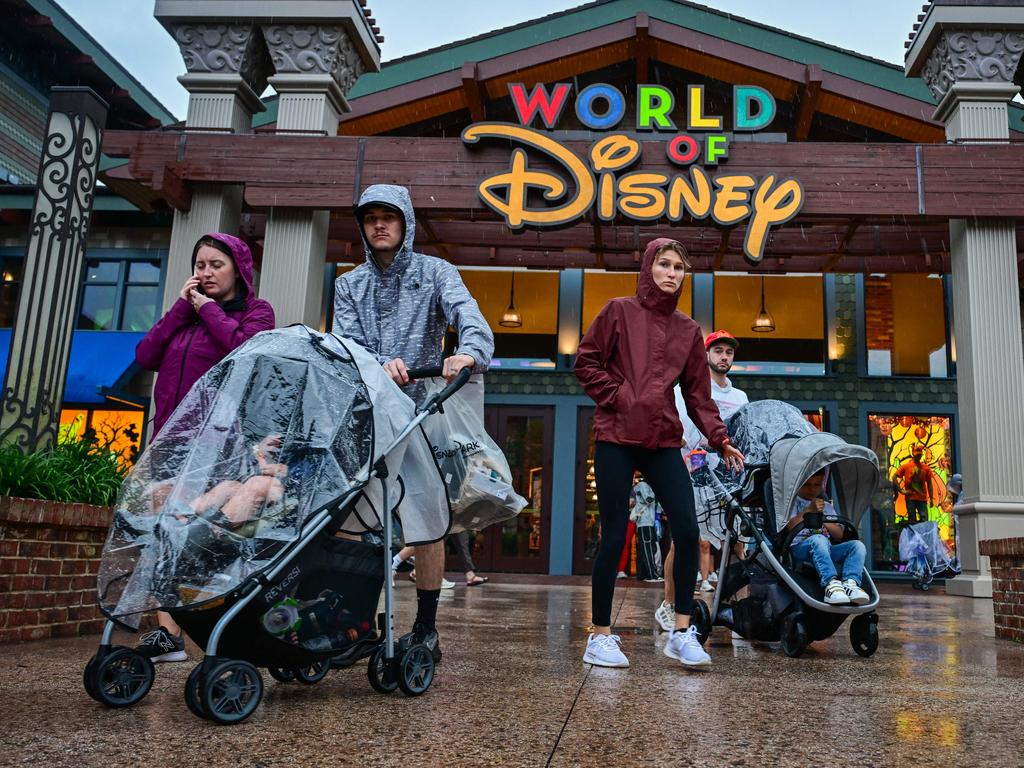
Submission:
[[[89,88],[50,91],[0,408],[0,442],[26,452],[57,437],[106,109]]]

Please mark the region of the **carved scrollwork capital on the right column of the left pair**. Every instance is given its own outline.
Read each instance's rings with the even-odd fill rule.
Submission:
[[[340,25],[264,25],[263,37],[280,75],[329,75],[347,92],[366,69]]]

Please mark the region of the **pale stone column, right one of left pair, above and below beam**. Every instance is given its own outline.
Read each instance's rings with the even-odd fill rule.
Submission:
[[[366,70],[340,24],[263,26],[280,94],[278,131],[334,136],[349,111],[345,93]],[[329,211],[274,208],[263,240],[260,296],[280,325],[321,323]]]

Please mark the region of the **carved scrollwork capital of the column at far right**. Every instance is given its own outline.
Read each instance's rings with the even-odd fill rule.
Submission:
[[[921,77],[941,101],[956,83],[1012,84],[1022,53],[1024,33],[944,31],[932,48]]]

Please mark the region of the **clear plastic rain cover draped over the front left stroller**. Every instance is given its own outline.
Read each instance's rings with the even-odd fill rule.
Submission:
[[[196,383],[125,479],[98,574],[104,612],[137,626],[142,611],[223,595],[335,500],[372,507],[359,492],[375,452],[414,413],[347,340],[301,326],[254,337]],[[427,527],[443,535],[447,514]]]

